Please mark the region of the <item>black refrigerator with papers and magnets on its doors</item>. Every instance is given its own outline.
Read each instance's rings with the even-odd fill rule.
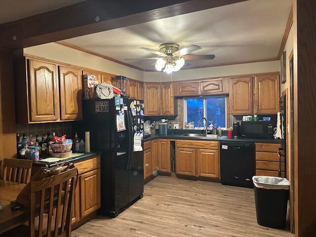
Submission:
[[[144,102],[124,97],[83,100],[82,129],[90,131],[90,150],[101,152],[100,213],[116,217],[143,197]],[[138,146],[134,146],[134,136]],[[135,143],[136,144],[136,143]]]

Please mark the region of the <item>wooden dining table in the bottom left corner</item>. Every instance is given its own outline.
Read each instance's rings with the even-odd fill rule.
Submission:
[[[0,211],[0,234],[28,221],[26,210],[14,212],[10,207],[10,202],[16,199],[25,186],[0,179],[0,202],[4,203],[4,209]]]

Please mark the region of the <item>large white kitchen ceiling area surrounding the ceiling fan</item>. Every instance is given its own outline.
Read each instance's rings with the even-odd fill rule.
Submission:
[[[65,42],[143,69],[155,60],[125,60],[155,56],[141,47],[158,49],[176,42],[197,44],[193,54],[215,54],[213,60],[190,61],[191,66],[276,58],[292,0],[249,0],[180,16],[77,37]]]

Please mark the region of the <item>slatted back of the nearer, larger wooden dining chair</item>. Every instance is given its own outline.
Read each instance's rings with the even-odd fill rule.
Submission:
[[[76,175],[77,168],[73,168],[39,181],[31,181],[30,198],[33,198],[31,203],[34,205],[30,206],[30,225],[35,225],[35,218],[39,216],[38,234],[35,234],[34,228],[30,228],[32,237],[42,237],[43,235],[70,237],[71,207]],[[46,213],[48,214],[47,225],[44,225],[43,217]]]

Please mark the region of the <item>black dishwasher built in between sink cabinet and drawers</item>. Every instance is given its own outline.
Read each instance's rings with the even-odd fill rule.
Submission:
[[[220,142],[221,183],[253,188],[255,144]]]

